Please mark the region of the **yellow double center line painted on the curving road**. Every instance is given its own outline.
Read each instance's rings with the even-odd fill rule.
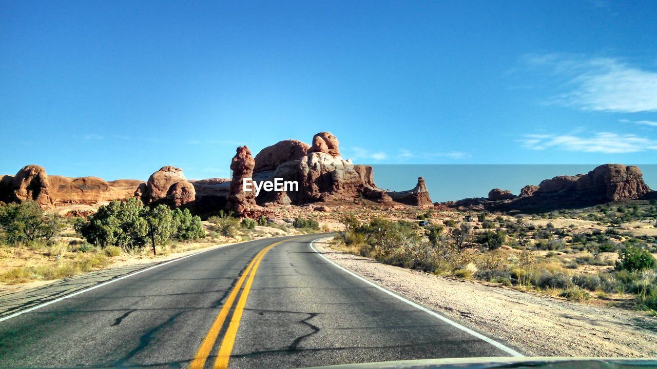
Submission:
[[[208,330],[208,334],[203,339],[203,342],[198,348],[198,351],[196,352],[196,356],[194,357],[194,361],[189,365],[190,369],[202,369],[205,366],[205,362],[206,360],[208,360],[210,351],[212,351],[212,347],[214,346],[215,341],[217,341],[217,336],[219,336],[219,331],[221,331],[221,327],[223,327],[223,323],[225,322],[226,317],[228,316],[228,313],[231,310],[231,307],[233,307],[233,302],[235,302],[235,298],[237,297],[237,294],[240,292],[240,289],[242,288],[242,284],[244,284],[244,280],[246,280],[246,285],[244,285],[244,290],[242,290],[242,294],[240,295],[239,301],[237,301],[237,306],[235,307],[235,311],[233,311],[233,316],[231,318],[230,325],[228,326],[228,330],[226,331],[226,334],[223,336],[223,341],[221,341],[221,347],[219,347],[219,355],[217,355],[217,359],[214,362],[214,368],[217,369],[228,368],[228,360],[231,357],[231,351],[233,351],[233,345],[235,345],[235,336],[237,336],[237,328],[239,328],[240,326],[240,319],[242,318],[242,312],[244,312],[244,305],[246,305],[246,299],[248,298],[248,293],[251,290],[251,284],[253,283],[253,280],[256,276],[256,272],[258,271],[258,266],[260,265],[260,261],[265,256],[265,253],[267,253],[267,251],[271,250],[274,246],[280,244],[281,242],[283,241],[275,242],[274,244],[271,244],[266,248],[260,250],[260,252],[256,254],[256,257],[253,258],[251,263],[249,263],[248,267],[246,267],[244,273],[242,273],[240,278],[237,280],[235,287],[228,295],[228,298],[226,299],[226,302],[223,304],[223,307],[221,307],[221,311],[219,311],[219,315],[217,315],[217,318],[212,323],[210,330]]]

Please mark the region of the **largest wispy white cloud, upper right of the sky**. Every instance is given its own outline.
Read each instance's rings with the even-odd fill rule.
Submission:
[[[549,104],[601,112],[657,112],[657,71],[631,66],[618,58],[566,54],[524,56],[532,68],[562,81],[564,92]]]

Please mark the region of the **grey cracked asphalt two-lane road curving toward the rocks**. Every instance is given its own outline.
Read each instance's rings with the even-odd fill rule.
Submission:
[[[315,238],[217,248],[1,321],[0,366],[299,368],[510,356],[339,269],[311,249]]]

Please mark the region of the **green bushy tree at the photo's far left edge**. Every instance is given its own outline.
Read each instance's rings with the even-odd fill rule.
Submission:
[[[45,213],[32,200],[0,206],[0,230],[10,243],[50,240],[61,228],[59,215]]]

